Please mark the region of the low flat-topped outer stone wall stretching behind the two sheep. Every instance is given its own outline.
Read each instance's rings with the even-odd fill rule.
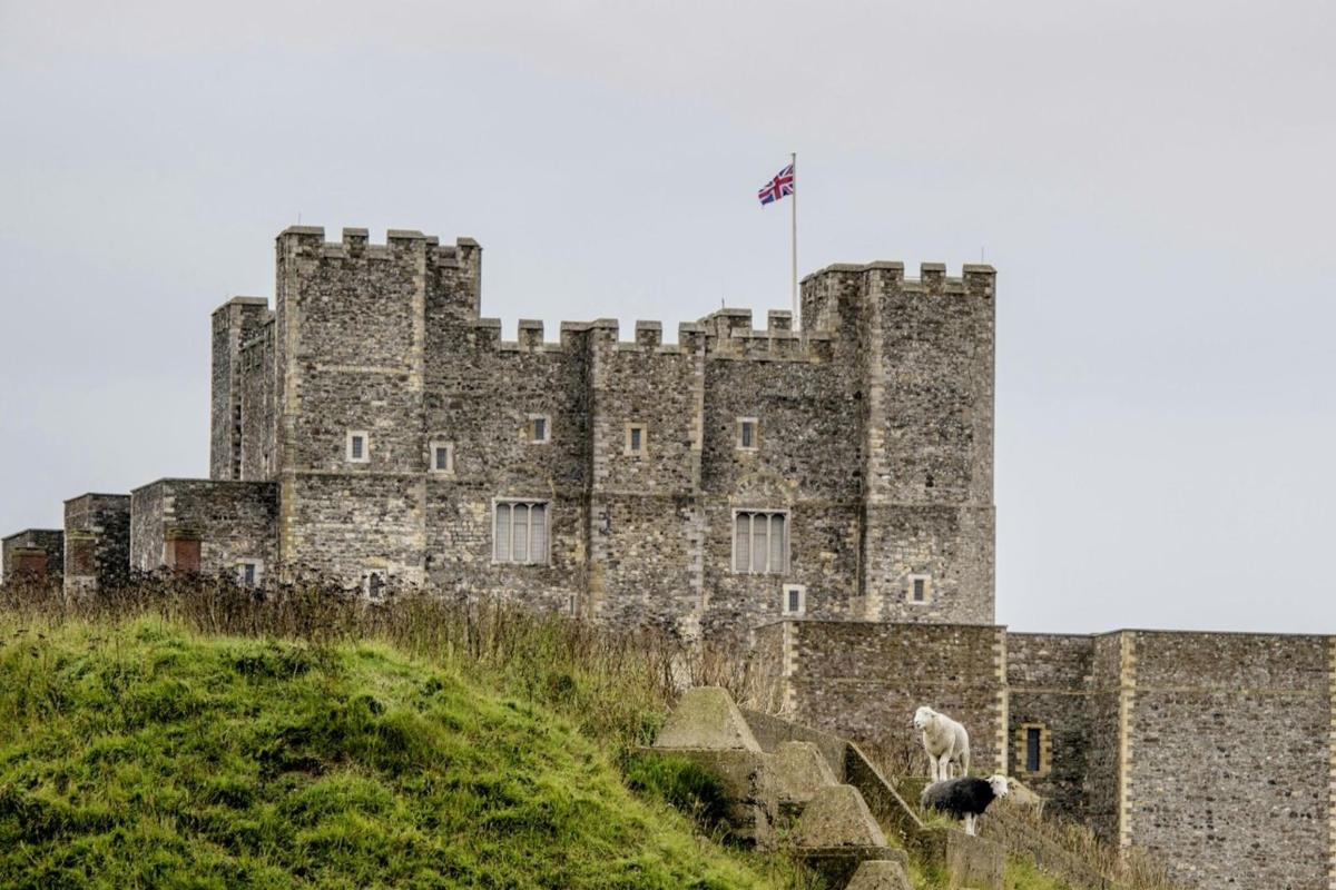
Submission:
[[[1329,889],[1336,636],[787,620],[755,655],[768,705],[858,739],[914,745],[918,705],[951,714],[977,770],[1185,886]]]

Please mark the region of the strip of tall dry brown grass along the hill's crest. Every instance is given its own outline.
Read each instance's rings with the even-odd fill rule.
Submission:
[[[613,747],[649,742],[659,715],[688,686],[724,686],[741,698],[745,683],[736,652],[655,628],[615,631],[493,599],[426,592],[373,604],[314,582],[251,591],[230,579],[152,574],[72,598],[17,580],[0,586],[0,615],[28,628],[148,616],[207,635],[386,642],[557,707]]]

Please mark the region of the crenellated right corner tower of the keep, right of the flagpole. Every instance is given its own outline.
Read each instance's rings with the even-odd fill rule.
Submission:
[[[859,588],[870,620],[994,620],[994,276],[832,266],[803,315],[856,368],[863,439]]]

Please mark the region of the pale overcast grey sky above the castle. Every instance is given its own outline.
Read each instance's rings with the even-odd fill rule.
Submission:
[[[191,11],[190,7],[198,7]],[[1336,632],[1336,4],[0,0],[0,534],[204,476],[285,226],[477,238],[484,314],[998,268],[998,619]]]

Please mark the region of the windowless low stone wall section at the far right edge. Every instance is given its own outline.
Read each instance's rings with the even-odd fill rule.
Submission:
[[[1332,638],[1128,635],[1130,841],[1193,886],[1327,890]]]

